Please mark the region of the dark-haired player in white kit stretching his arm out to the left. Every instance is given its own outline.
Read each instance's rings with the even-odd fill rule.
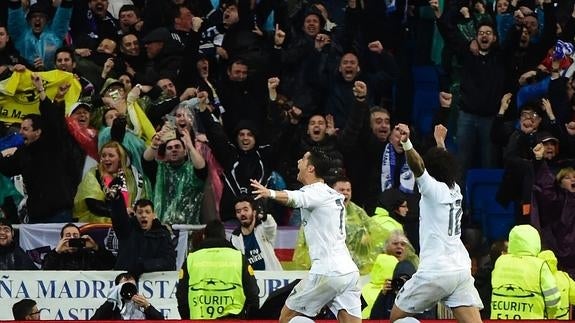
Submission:
[[[324,183],[329,159],[321,152],[306,152],[298,161],[297,191],[273,191],[252,180],[256,199],[271,198],[301,208],[304,235],[312,260],[307,278],[293,289],[280,322],[316,316],[328,306],[339,322],[361,322],[359,270],[345,245],[344,196]]]

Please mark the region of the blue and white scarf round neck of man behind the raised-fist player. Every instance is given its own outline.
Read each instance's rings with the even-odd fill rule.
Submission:
[[[393,149],[393,145],[388,143],[383,151],[383,158],[381,161],[381,191],[385,191],[393,187],[393,178],[395,172],[395,165],[397,162],[397,152]],[[413,193],[415,188],[415,176],[406,162],[401,165],[399,175],[399,190],[404,193]]]

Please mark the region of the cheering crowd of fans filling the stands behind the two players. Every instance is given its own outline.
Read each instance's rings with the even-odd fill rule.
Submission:
[[[298,160],[320,151],[326,183],[345,196],[354,262],[386,272],[372,290],[397,293],[393,268],[407,261],[412,272],[419,252],[420,194],[395,127],[404,123],[418,151],[445,142],[456,154],[462,188],[469,169],[502,168],[497,201],[514,205],[513,225],[536,229],[518,230],[509,254],[525,247],[518,236],[537,245],[539,235],[528,254],[551,250],[541,263],[575,284],[574,41],[573,0],[1,1],[0,91],[37,109],[15,123],[15,101],[0,100],[0,268],[31,269],[10,224],[61,223],[42,269],[137,279],[176,269],[170,225],[217,219],[235,229],[233,245],[218,246],[281,269],[276,230],[300,226],[300,211],[253,200],[251,180],[297,190]],[[421,65],[439,84],[425,107],[414,105]],[[21,93],[6,94],[14,82]],[[479,224],[463,209],[489,317],[507,250],[473,239]],[[75,222],[111,223],[117,257]],[[309,262],[300,230],[292,265]]]

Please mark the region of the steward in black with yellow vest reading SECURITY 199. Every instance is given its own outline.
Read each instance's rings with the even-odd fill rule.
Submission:
[[[219,220],[206,225],[203,238],[180,270],[176,297],[181,318],[248,319],[259,308],[259,288],[252,267],[226,240]]]

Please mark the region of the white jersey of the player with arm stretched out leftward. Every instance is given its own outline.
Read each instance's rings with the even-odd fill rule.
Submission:
[[[286,192],[290,206],[301,208],[310,273],[336,276],[358,271],[345,244],[344,196],[325,183]]]

